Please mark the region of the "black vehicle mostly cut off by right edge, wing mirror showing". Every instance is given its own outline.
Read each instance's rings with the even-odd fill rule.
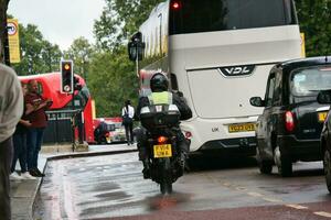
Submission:
[[[331,72],[331,67],[329,69]],[[321,91],[318,96],[320,103],[331,105],[331,90]],[[328,190],[331,194],[331,114],[330,111],[324,121],[321,133],[321,148],[323,154],[323,166]]]

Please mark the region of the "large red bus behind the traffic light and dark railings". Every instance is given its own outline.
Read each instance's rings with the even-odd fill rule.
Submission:
[[[83,139],[87,143],[94,143],[93,118],[94,105],[86,86],[85,80],[75,75],[82,89],[75,90],[74,96],[61,92],[61,73],[40,74],[31,76],[20,76],[20,80],[28,84],[29,80],[35,79],[39,82],[41,96],[51,98],[53,105],[47,110],[49,125],[45,130],[45,143],[71,142],[73,136],[78,140],[77,128],[73,134],[73,121],[78,113],[83,114]]]

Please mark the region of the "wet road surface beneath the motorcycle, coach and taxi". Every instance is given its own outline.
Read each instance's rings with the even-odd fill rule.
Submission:
[[[260,175],[253,158],[192,161],[192,170],[173,185],[171,196],[160,196],[159,186],[142,178],[137,153],[51,162],[34,217],[331,219],[321,163],[297,163],[293,177],[281,178]]]

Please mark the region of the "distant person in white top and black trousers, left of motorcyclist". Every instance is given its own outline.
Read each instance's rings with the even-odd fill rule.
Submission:
[[[134,117],[135,108],[131,106],[130,100],[126,100],[125,107],[121,109],[122,125],[126,130],[126,139],[128,145],[134,144]]]

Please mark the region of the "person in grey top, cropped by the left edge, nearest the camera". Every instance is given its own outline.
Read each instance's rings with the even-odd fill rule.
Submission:
[[[23,95],[13,69],[0,64],[0,219],[10,220],[10,165],[12,134],[23,113]]]

